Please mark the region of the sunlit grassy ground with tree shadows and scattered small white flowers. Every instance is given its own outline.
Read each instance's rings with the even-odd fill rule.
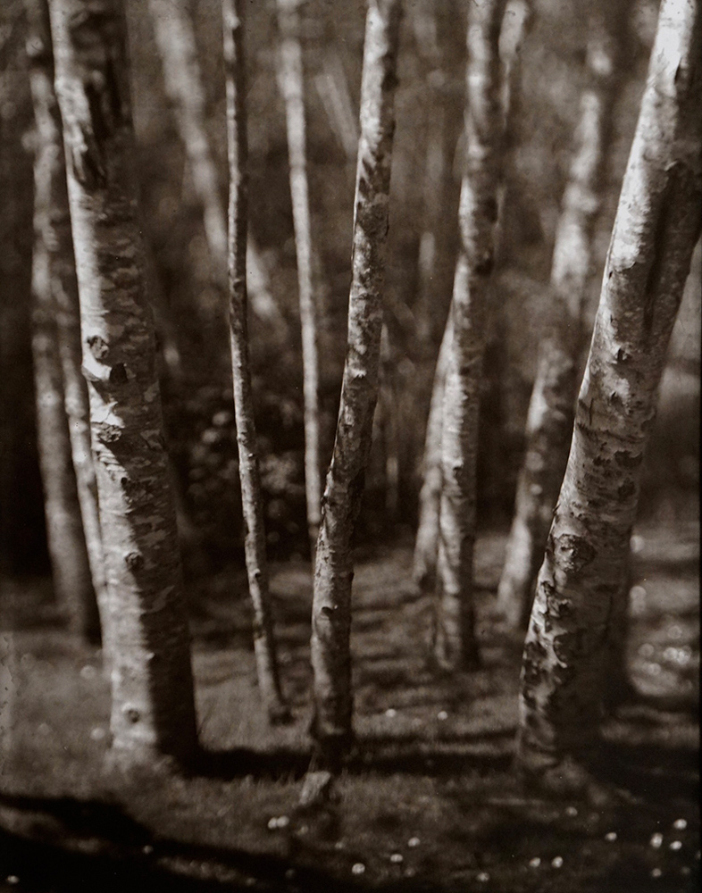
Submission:
[[[427,666],[431,605],[412,585],[410,550],[359,555],[358,747],[338,802],[311,816],[296,809],[309,756],[305,563],[272,569],[295,714],[285,727],[268,728],[259,707],[244,580],[221,574],[191,593],[208,756],[188,778],[104,772],[99,652],[61,629],[46,581],[17,584],[15,631],[0,635],[13,689],[0,729],[0,889],[698,890],[698,523],[651,523],[634,540],[639,698],[606,723],[600,762],[637,805],[532,797],[514,779],[521,642],[491,614],[504,546],[497,533],[478,542],[483,668],[455,679]]]

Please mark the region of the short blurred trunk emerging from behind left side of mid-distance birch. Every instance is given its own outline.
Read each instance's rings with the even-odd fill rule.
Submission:
[[[439,359],[434,371],[427,433],[422,459],[422,489],[419,494],[419,523],[414,540],[414,582],[424,592],[436,585],[439,556],[439,511],[441,507],[441,430],[444,424],[444,382],[448,354],[453,338],[452,317],[449,316],[444,338],[439,348]]]

